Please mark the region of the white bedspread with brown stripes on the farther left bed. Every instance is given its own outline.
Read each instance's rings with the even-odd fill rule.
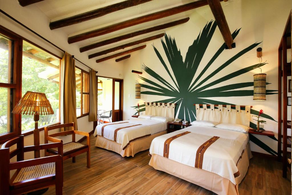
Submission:
[[[120,123],[120,124],[116,124]],[[115,124],[115,125],[110,125]],[[137,125],[137,126],[133,126]],[[159,133],[166,130],[166,122],[159,122],[150,119],[133,118],[131,120],[124,120],[118,122],[104,123],[96,126],[94,136],[102,135],[102,127],[104,127],[103,137],[116,141],[121,144],[123,149],[130,141],[134,139],[143,138],[143,136]],[[133,126],[133,127],[129,127]],[[114,139],[114,132],[118,128],[127,127],[117,131],[116,140]]]

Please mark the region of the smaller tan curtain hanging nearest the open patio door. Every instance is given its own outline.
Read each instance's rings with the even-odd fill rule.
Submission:
[[[89,74],[89,117],[88,121],[97,121],[97,82],[96,72],[91,70]]]

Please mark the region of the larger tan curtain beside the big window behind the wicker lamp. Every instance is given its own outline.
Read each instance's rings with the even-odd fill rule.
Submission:
[[[75,60],[65,52],[61,61],[61,124],[74,122],[77,130],[76,117],[76,79]],[[69,130],[68,127],[61,131]]]

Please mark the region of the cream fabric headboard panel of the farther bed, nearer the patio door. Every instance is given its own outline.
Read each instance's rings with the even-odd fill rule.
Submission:
[[[145,114],[154,116],[164,116],[174,119],[174,103],[155,103],[155,102],[145,102]]]

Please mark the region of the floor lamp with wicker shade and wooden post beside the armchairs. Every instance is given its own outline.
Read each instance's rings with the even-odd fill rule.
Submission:
[[[51,115],[54,111],[44,93],[27,91],[13,108],[13,114],[34,115],[34,145],[39,145],[39,115]],[[40,151],[34,151],[34,158],[40,157]]]

